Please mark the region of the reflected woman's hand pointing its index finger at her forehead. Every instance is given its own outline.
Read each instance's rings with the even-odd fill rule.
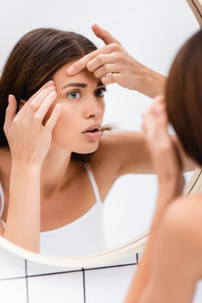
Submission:
[[[118,83],[125,88],[141,91],[147,68],[130,56],[107,30],[96,24],[92,25],[92,30],[106,45],[72,64],[67,73],[72,76],[87,68],[96,78],[102,78],[105,85]],[[74,68],[72,73],[71,68]]]

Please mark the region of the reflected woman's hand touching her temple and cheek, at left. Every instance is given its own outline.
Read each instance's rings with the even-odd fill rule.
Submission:
[[[49,85],[48,85],[49,84]],[[14,95],[9,96],[4,132],[15,163],[41,167],[52,140],[52,130],[61,113],[55,106],[51,117],[42,125],[42,120],[57,97],[54,81],[43,85],[17,113]],[[54,94],[54,95],[52,95]]]

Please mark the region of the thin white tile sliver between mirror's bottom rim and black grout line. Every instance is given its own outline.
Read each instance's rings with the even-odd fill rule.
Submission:
[[[59,272],[69,272],[69,271],[75,271],[75,270],[82,270],[82,268],[81,267],[49,266],[49,265],[44,265],[44,264],[27,261],[27,275],[28,276],[59,273]]]

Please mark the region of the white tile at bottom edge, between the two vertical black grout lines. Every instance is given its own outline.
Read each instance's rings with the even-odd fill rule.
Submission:
[[[29,303],[84,303],[83,273],[29,277]]]

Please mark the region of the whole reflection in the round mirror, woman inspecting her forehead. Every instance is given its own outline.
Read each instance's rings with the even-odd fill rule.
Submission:
[[[133,9],[113,6],[113,16],[108,3],[105,20],[98,3],[68,4],[77,18],[59,10],[62,0],[47,15],[43,5],[33,20],[19,1],[23,27],[6,27],[2,38],[0,233],[43,255],[91,255],[149,228],[158,180],[141,113],[164,92],[175,53],[199,25],[183,0],[127,0]],[[187,184],[196,164],[169,132]]]

